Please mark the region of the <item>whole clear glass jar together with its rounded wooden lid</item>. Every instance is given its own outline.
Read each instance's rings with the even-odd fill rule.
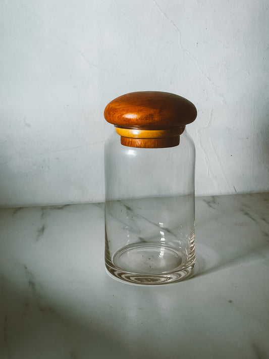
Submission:
[[[104,110],[115,132],[105,143],[105,266],[136,284],[189,277],[195,263],[195,147],[186,98],[132,92]]]

